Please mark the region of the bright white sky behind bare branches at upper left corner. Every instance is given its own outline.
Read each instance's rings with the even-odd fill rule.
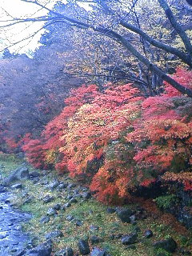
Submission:
[[[54,6],[56,0],[40,0],[41,3],[47,3],[47,7],[50,9]],[[8,24],[7,21],[12,18],[30,18],[46,15],[47,11],[42,10],[41,7],[36,6],[33,3],[22,2],[22,0],[0,0],[0,26]],[[0,51],[9,47],[10,52],[29,53],[30,50],[34,51],[38,45],[38,39],[44,30],[35,34],[32,38],[20,42],[17,45],[13,45],[15,42],[27,38],[30,34],[34,34],[35,31],[40,30],[43,26],[43,22],[26,22],[18,25],[5,28],[0,27]]]

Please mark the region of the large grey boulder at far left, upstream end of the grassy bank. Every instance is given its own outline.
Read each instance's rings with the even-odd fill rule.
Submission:
[[[11,182],[16,182],[18,180],[29,179],[30,174],[29,170],[26,166],[20,166],[16,170],[13,170],[10,175],[4,179],[3,185],[10,186]]]

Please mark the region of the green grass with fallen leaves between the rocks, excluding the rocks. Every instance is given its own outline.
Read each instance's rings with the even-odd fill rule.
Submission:
[[[5,167],[1,171],[2,175],[5,176],[10,170],[14,170],[17,166],[21,165],[21,161],[15,160],[13,156],[10,156],[8,158],[0,158],[0,165]],[[55,175],[54,172],[50,172],[44,179],[51,181],[55,178]],[[40,224],[40,219],[46,215],[48,208],[56,203],[64,204],[67,202],[66,196],[70,193],[68,191],[58,192],[56,190],[50,192],[50,190],[46,189],[46,186],[42,186],[39,183],[34,185],[30,181],[23,182],[23,186],[25,190],[17,190],[17,193],[15,193],[14,204],[21,207],[22,210],[29,211],[34,216],[29,223],[24,224],[23,228],[32,233],[34,240],[38,238],[41,242],[45,241],[44,235],[46,233],[53,230],[62,230],[64,237],[54,240],[54,251],[63,249],[66,246],[71,246],[74,250],[77,250],[78,239],[90,237],[91,235],[98,235],[99,238],[102,238],[103,242],[95,246],[105,248],[112,256],[126,256],[130,254],[132,256],[157,255],[154,253],[153,246],[151,246],[152,243],[170,236],[178,242],[179,246],[184,246],[185,249],[191,250],[192,237],[190,232],[176,222],[169,214],[162,214],[162,212],[157,210],[153,202],[140,202],[140,205],[144,206],[148,211],[148,217],[137,222],[141,232],[138,233],[140,242],[136,244],[136,250],[125,250],[121,239],[111,240],[110,234],[129,234],[134,231],[135,226],[122,223],[116,214],[107,214],[106,206],[96,202],[93,198],[86,202],[78,199],[78,203],[72,204],[65,211],[59,210],[56,217],[50,217],[50,222]],[[47,194],[54,196],[55,200],[54,202],[43,204],[42,198]],[[31,202],[23,204],[28,196],[32,198]],[[134,202],[126,207],[134,207],[136,204],[139,203]],[[92,214],[90,214],[90,211],[92,211]],[[74,222],[68,222],[66,220],[67,215],[73,215],[78,220],[81,220],[83,226],[78,227]],[[93,225],[99,226],[100,229],[93,233],[90,231],[90,226]],[[143,232],[147,229],[153,230],[153,238],[143,238]]]

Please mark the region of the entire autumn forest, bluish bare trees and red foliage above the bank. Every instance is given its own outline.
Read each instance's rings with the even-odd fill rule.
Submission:
[[[22,2],[49,13],[2,22],[46,29],[30,56],[3,50],[2,154],[24,150],[106,203],[159,183],[191,192],[191,2]]]

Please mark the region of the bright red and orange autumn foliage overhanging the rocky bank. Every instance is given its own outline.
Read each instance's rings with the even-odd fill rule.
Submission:
[[[192,89],[192,72],[178,69],[174,78]],[[122,202],[129,190],[159,178],[192,190],[192,99],[165,86],[150,98],[131,84],[72,90],[42,138],[23,150],[35,167],[84,174],[106,203]]]

